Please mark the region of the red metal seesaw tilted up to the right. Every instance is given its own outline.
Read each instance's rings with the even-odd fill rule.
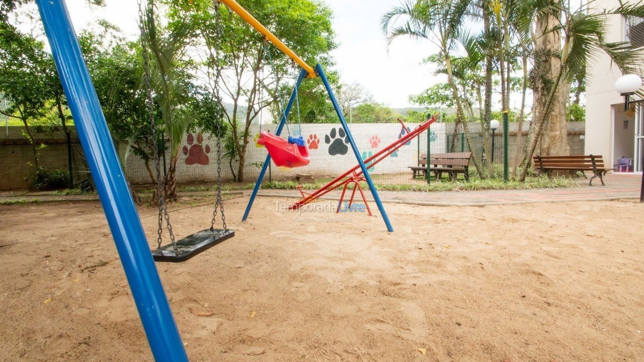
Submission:
[[[375,164],[378,162],[381,162],[384,160],[384,158],[388,157],[391,155],[393,152],[395,152],[397,149],[401,148],[412,140],[413,138],[417,137],[424,131],[426,131],[428,128],[430,128],[431,124],[433,122],[436,122],[436,119],[438,117],[438,113],[431,116],[430,119],[425,120],[416,128],[414,128],[412,131],[407,133],[401,138],[398,138],[397,140],[393,141],[392,144],[389,144],[385,148],[381,149],[380,151],[376,152],[372,157],[366,158],[365,159],[365,165],[367,169],[370,169],[371,167],[374,167]],[[403,125],[403,128],[406,130],[407,127],[404,125],[404,122],[402,119],[398,119],[399,122]],[[340,207],[339,205],[342,204],[342,200],[345,197],[345,192],[349,184],[354,184],[354,189],[351,195],[351,200],[349,203],[349,206],[353,203],[354,196],[355,196],[355,189],[359,189],[361,196],[363,200],[365,201],[365,206],[369,214],[371,215],[371,210],[369,209],[369,206],[366,204],[366,199],[365,199],[365,194],[362,192],[362,188],[359,186],[359,182],[364,180],[364,178],[361,176],[363,174],[362,169],[360,169],[360,165],[355,165],[354,167],[350,168],[348,171],[343,173],[340,176],[337,176],[334,178],[334,180],[328,182],[325,186],[320,187],[315,191],[314,193],[305,193],[304,191],[301,190],[301,187],[298,187],[299,192],[302,194],[302,199],[296,202],[295,204],[292,204],[289,206],[289,209],[299,209],[302,205],[306,205],[310,202],[313,202],[320,198],[323,195],[326,195],[327,193],[330,193],[331,191],[339,188],[339,187],[344,187],[342,191],[342,196],[340,197],[339,204],[337,211],[339,211]]]

